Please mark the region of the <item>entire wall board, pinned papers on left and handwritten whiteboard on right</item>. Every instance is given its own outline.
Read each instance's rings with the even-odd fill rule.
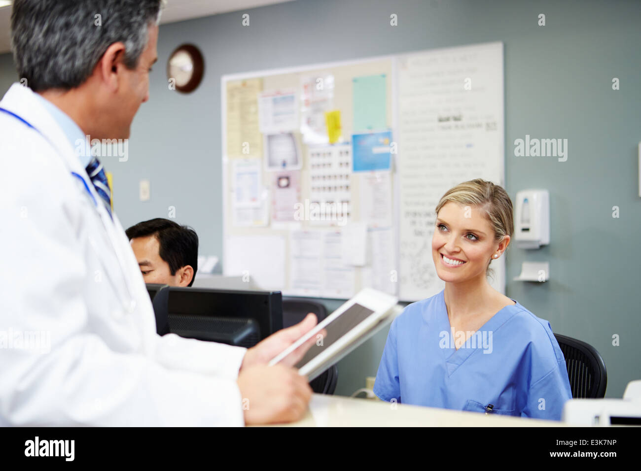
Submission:
[[[263,289],[429,297],[438,199],[504,184],[500,42],[227,75],[221,94],[223,274]]]

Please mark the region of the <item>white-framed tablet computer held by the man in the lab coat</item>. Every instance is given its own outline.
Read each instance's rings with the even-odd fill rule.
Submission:
[[[398,299],[392,295],[365,288],[275,356],[269,364],[275,365],[309,338],[316,336],[316,343],[294,365],[301,375],[308,376],[311,381],[364,342],[364,336],[369,338],[373,335],[374,329],[385,324],[383,321],[390,315],[397,314],[399,310],[394,309],[397,302]],[[326,335],[320,335],[322,330],[326,331]]]

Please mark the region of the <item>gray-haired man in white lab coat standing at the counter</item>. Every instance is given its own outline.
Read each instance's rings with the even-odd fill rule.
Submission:
[[[314,339],[288,365],[267,361],[313,315],[249,350],[156,335],[104,170],[82,151],[85,135],[129,137],[161,3],[13,2],[22,84],[0,102],[0,426],[242,426],[306,411],[292,365]]]

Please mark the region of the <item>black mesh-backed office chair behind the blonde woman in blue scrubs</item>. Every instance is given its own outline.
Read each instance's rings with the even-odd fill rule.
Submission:
[[[565,357],[572,397],[574,399],[603,398],[608,385],[608,374],[599,352],[592,345],[576,338],[559,334],[554,336]]]

